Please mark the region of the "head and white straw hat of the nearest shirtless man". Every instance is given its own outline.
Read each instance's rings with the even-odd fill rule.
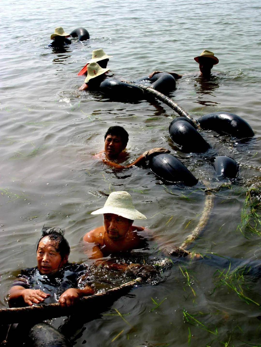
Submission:
[[[111,193],[103,208],[91,214],[103,214],[105,232],[112,240],[124,239],[134,220],[147,219],[135,209],[132,198],[127,192]]]

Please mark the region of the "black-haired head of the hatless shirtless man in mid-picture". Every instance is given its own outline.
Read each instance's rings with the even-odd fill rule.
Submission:
[[[129,134],[118,125],[108,128],[104,135],[104,152],[108,157],[117,157],[127,146]]]

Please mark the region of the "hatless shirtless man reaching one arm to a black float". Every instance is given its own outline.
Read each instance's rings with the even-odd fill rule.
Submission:
[[[104,136],[104,150],[95,154],[96,158],[102,159],[105,164],[108,164],[111,167],[117,169],[126,169],[131,168],[134,165],[144,163],[146,160],[149,160],[151,156],[160,154],[160,153],[169,153],[169,150],[165,148],[153,148],[149,151],[144,152],[138,159],[133,163],[126,166],[115,163],[122,163],[127,159],[128,153],[125,151],[127,143],[129,141],[129,134],[127,131],[120,126],[114,126],[108,128]],[[113,161],[112,161],[113,160]]]

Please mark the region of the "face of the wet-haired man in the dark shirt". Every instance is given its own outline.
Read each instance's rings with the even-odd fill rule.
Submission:
[[[36,258],[37,266],[42,274],[52,274],[58,271],[67,263],[68,256],[62,259],[60,253],[56,251],[57,244],[45,236],[39,243]]]

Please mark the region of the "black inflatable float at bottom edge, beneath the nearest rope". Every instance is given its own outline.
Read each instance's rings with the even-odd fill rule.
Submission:
[[[69,340],[47,323],[35,324],[29,331],[32,347],[72,347]]]

